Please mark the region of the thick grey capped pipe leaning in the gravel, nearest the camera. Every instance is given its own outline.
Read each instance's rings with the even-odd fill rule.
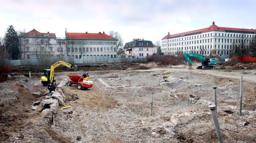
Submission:
[[[214,127],[215,127],[215,130],[216,130],[216,134],[217,134],[219,143],[224,143],[223,138],[222,138],[222,134],[221,134],[221,131],[220,131],[219,121],[218,121],[217,114],[216,114],[216,105],[209,105],[208,108],[211,110],[211,113],[212,113]]]

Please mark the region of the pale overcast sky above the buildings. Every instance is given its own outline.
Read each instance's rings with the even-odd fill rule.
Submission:
[[[256,0],[0,0],[0,36],[16,31],[97,33],[118,31],[133,38],[162,39],[209,27],[256,28]]]

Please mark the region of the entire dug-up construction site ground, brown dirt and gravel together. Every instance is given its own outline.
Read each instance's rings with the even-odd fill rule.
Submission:
[[[42,84],[41,76],[46,73],[9,74],[0,83],[0,141],[218,142],[213,112],[208,108],[214,105],[213,87],[217,87],[223,141],[256,142],[255,64],[233,70],[248,65],[203,70],[196,69],[197,62],[191,69],[185,64],[158,64],[56,71],[56,89],[51,95]],[[93,86],[80,84],[84,73],[89,73]]]

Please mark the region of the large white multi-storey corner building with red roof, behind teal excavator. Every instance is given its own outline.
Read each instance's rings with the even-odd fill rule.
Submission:
[[[255,34],[256,29],[218,27],[213,22],[207,28],[178,34],[168,32],[161,40],[161,49],[164,55],[188,52],[202,55],[229,56],[235,46],[248,47]]]

